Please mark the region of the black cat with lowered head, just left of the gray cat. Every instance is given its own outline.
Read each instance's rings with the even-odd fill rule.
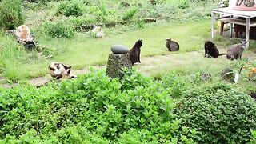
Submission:
[[[218,56],[224,55],[219,54],[217,46],[214,44],[214,42],[206,41],[205,42],[205,57],[207,56],[218,58]]]

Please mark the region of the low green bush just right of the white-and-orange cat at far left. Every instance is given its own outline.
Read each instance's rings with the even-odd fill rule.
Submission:
[[[64,22],[48,23],[46,24],[46,31],[53,38],[75,38],[76,32]]]

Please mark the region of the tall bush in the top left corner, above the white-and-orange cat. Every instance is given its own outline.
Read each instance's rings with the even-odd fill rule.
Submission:
[[[21,0],[0,2],[0,29],[14,29],[24,22]]]

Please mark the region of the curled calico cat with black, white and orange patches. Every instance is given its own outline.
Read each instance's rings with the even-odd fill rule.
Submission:
[[[77,78],[75,75],[70,75],[71,66],[66,66],[60,62],[52,62],[48,70],[53,78]]]

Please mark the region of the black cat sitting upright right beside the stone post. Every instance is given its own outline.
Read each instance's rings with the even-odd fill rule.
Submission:
[[[136,62],[141,62],[140,60],[140,54],[141,54],[141,47],[142,47],[142,40],[138,40],[134,47],[132,49],[130,49],[129,54],[130,54],[130,61],[132,63],[132,65],[134,65],[134,63]]]

